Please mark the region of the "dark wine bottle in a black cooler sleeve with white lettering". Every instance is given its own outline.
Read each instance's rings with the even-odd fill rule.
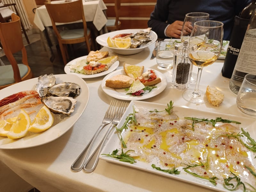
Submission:
[[[234,26],[231,33],[225,61],[223,68],[221,70],[222,76],[226,78],[231,78],[236,60],[243,42],[243,38],[252,16],[253,11],[256,8],[256,0],[248,4],[234,19]]]

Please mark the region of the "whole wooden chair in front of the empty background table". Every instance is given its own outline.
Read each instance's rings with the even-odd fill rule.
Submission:
[[[91,31],[87,28],[84,17],[84,7],[82,0],[68,3],[50,4],[45,3],[46,9],[52,21],[52,28],[59,41],[60,51],[63,62],[67,64],[68,51],[66,44],[75,44],[85,42],[88,53],[91,51],[92,38]],[[70,23],[78,20],[83,21],[83,29],[70,29],[60,31],[55,23]],[[90,40],[90,41],[89,41]]]

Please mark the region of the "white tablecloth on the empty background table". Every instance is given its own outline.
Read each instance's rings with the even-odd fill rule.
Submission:
[[[60,3],[60,1],[52,1],[52,3]],[[94,26],[98,29],[98,31],[100,31],[100,29],[107,23],[107,18],[103,12],[103,10],[106,10],[107,7],[103,0],[83,0],[83,5],[85,20],[92,21]],[[34,23],[41,31],[44,31],[44,27],[52,26],[51,18],[45,5],[36,9]],[[59,25],[61,25],[61,23]]]

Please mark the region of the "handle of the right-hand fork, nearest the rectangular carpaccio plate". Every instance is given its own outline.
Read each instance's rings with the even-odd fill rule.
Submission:
[[[84,171],[86,173],[91,173],[99,160],[99,156],[100,156],[100,151],[102,150],[104,143],[108,137],[108,134],[111,132],[112,128],[114,127],[115,124],[111,124],[111,126],[109,127],[107,133],[105,134],[105,136],[103,137],[103,139],[101,140],[100,144],[98,145],[98,147],[96,148],[96,150],[92,153],[92,155],[90,156],[90,158],[85,162],[84,164]]]

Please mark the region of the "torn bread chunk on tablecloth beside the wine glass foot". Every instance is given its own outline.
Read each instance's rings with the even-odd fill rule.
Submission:
[[[224,94],[218,91],[215,87],[209,87],[209,85],[206,88],[206,97],[211,105],[217,107],[219,107],[224,100]]]

